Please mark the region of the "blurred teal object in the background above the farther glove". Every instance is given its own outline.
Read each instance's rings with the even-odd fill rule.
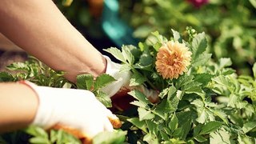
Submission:
[[[118,0],[104,0],[102,12],[102,29],[106,35],[120,48],[122,45],[138,45],[133,38],[133,30],[118,16]]]

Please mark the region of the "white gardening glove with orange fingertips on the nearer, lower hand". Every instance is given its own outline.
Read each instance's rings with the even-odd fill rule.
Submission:
[[[116,122],[118,118],[90,91],[36,86],[26,81],[22,83],[38,95],[39,104],[33,125],[46,130],[62,128],[74,132],[78,138],[86,138],[87,142],[102,131],[113,131],[110,121]]]

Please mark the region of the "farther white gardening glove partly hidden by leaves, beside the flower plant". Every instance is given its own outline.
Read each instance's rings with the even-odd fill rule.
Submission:
[[[102,88],[102,91],[106,94],[109,94],[110,97],[114,95],[124,95],[127,94],[130,90],[139,90],[146,95],[146,98],[150,102],[158,102],[158,91],[149,90],[146,86],[129,86],[131,72],[130,71],[121,71],[121,64],[112,62],[109,57],[106,57],[106,74],[110,74],[116,81],[111,82],[109,85]]]

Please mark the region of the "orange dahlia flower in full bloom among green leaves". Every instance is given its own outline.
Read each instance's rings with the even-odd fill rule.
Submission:
[[[184,43],[169,41],[160,47],[156,58],[156,70],[162,78],[178,78],[190,65],[191,52]]]

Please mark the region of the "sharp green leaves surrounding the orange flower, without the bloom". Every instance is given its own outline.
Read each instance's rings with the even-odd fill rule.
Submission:
[[[158,48],[168,41],[158,32],[138,45],[137,54],[130,52],[131,46],[106,50],[130,66],[126,69],[133,72],[133,78],[144,79],[140,84],[161,92],[158,103],[151,103],[137,90],[129,93],[135,98],[131,104],[138,106],[138,115],[127,119],[132,124],[130,133],[142,134],[137,141],[148,143],[254,142],[254,78],[238,77],[229,67],[230,58],[214,62],[207,53],[204,33],[197,34],[191,28],[185,32],[188,35],[172,32],[170,39],[186,43],[193,53],[188,72],[177,79],[162,79],[154,69]],[[144,59],[151,61],[146,68],[142,66]]]

